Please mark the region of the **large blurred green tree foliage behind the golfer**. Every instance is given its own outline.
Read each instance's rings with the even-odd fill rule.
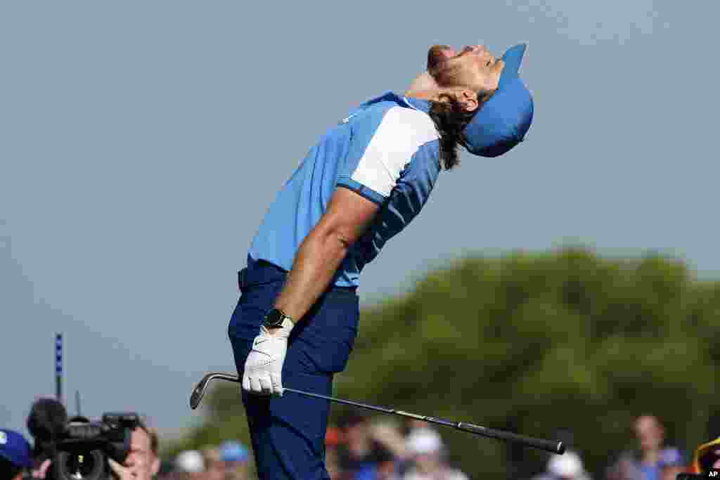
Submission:
[[[720,435],[706,431],[718,366],[719,282],[659,255],[566,248],[457,261],[364,309],[335,394],[538,437],[569,428],[601,477],[611,453],[634,446],[637,415],[658,415],[688,450]],[[238,386],[218,386],[206,402],[204,423],[173,449],[248,440]],[[507,445],[441,433],[472,478],[508,474]],[[548,457],[523,450],[523,473]]]

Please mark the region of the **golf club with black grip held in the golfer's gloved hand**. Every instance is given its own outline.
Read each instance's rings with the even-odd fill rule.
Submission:
[[[195,389],[192,391],[192,394],[190,395],[190,408],[192,408],[192,409],[197,408],[197,406],[200,404],[200,400],[202,400],[202,397],[205,394],[205,390],[207,390],[207,384],[210,383],[210,380],[215,380],[215,379],[233,381],[238,384],[242,383],[242,380],[240,380],[240,377],[237,375],[233,375],[232,373],[222,373],[222,372],[207,373],[204,377],[202,377],[202,380],[200,381],[199,384],[197,384]],[[518,435],[517,433],[510,433],[510,432],[505,432],[503,430],[495,430],[492,428],[481,427],[480,425],[474,425],[472,423],[452,422],[451,420],[444,420],[444,419],[438,418],[438,417],[428,417],[426,415],[418,415],[415,413],[403,412],[402,410],[396,410],[396,409],[387,408],[387,407],[379,407],[377,405],[364,404],[364,403],[360,403],[360,402],[351,402],[350,400],[336,399],[335,397],[327,397],[325,395],[313,394],[313,393],[310,393],[309,391],[289,389],[287,387],[284,388],[284,391],[290,391],[294,394],[305,395],[305,397],[315,397],[315,398],[319,398],[319,399],[323,399],[323,400],[329,400],[330,402],[351,405],[352,407],[359,407],[359,408],[374,410],[375,412],[382,412],[382,413],[387,413],[390,415],[398,415],[400,417],[414,418],[415,420],[423,420],[424,422],[436,423],[438,425],[445,425],[446,427],[454,427],[456,430],[462,430],[464,432],[474,433],[476,435],[482,435],[482,436],[488,437],[488,438],[496,438],[498,440],[506,440],[508,442],[516,442],[516,443],[520,443],[521,445],[526,445],[528,447],[539,448],[541,450],[546,450],[551,453],[557,453],[558,455],[562,455],[562,453],[564,453],[564,451],[565,451],[564,443],[559,442],[557,440],[544,440],[541,438],[526,437],[525,435]]]

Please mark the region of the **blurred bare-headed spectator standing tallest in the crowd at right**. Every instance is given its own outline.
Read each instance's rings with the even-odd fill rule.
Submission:
[[[657,417],[642,415],[633,430],[638,449],[621,453],[608,471],[608,480],[661,480],[661,459],[669,455],[663,448],[665,428]]]

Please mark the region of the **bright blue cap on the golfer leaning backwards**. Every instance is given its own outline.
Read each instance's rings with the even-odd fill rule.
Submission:
[[[518,71],[527,45],[510,47],[495,94],[463,130],[464,146],[481,157],[497,157],[523,141],[533,121],[533,97]]]

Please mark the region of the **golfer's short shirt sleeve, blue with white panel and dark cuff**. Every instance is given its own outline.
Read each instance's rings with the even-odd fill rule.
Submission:
[[[392,107],[377,117],[353,126],[337,184],[382,204],[413,155],[439,135],[428,114],[418,110]]]

